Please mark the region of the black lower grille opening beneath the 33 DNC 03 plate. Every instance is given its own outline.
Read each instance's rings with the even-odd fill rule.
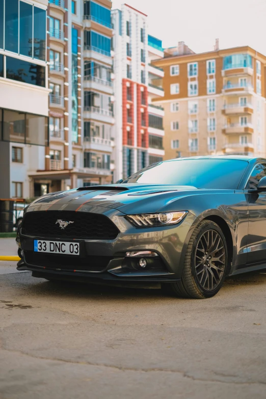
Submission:
[[[25,261],[34,266],[42,266],[47,270],[61,269],[67,271],[88,271],[102,272],[107,268],[112,258],[108,256],[89,256],[79,258],[76,256],[44,254],[31,251],[25,251]]]

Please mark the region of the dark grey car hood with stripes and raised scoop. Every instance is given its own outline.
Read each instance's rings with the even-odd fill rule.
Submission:
[[[180,198],[210,191],[214,192],[214,190],[197,189],[188,185],[138,183],[98,185],[44,195],[35,200],[28,210],[90,212],[93,207],[100,206],[117,209],[126,215],[149,213],[162,210],[166,205]],[[220,191],[224,190],[215,190],[215,193]]]

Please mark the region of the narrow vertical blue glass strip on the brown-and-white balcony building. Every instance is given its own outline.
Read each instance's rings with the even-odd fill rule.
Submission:
[[[77,29],[72,28],[72,141],[78,141]]]

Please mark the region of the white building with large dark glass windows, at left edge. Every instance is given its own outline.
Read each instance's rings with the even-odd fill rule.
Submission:
[[[48,0],[0,0],[0,197],[30,197],[48,145]],[[33,187],[32,187],[33,188]]]

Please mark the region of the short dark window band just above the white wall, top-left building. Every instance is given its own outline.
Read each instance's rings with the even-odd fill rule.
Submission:
[[[45,87],[45,67],[6,57],[6,77],[14,81]]]

